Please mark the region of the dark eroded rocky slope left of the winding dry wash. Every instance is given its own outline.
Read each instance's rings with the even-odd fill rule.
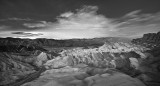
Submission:
[[[44,70],[43,63],[54,57],[39,50],[26,52],[0,52],[0,85],[19,86],[26,82],[27,76],[38,77]]]

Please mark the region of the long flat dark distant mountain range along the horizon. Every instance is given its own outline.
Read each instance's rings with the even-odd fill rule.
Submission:
[[[103,45],[105,42],[130,42],[128,38],[121,37],[103,37],[103,38],[93,38],[93,39],[68,39],[68,40],[55,40],[55,39],[20,39],[20,38],[0,38],[0,48],[12,50],[12,48],[21,50],[21,48],[26,48],[33,50],[35,48],[51,46],[51,47],[86,47],[94,46],[98,47]]]

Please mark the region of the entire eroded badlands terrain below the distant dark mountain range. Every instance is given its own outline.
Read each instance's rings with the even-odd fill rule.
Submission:
[[[15,44],[16,52],[6,46],[6,51],[0,53],[0,85],[160,85],[158,48],[151,49],[123,42],[103,42],[105,44],[99,47],[63,49],[56,55],[39,45],[34,46],[33,41],[22,43],[22,47]],[[64,46],[66,42],[61,43]]]

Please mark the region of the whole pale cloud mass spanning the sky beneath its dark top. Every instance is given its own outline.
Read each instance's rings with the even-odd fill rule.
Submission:
[[[20,33],[10,35],[54,39],[110,36],[133,38],[140,37],[145,33],[160,31],[160,12],[143,13],[143,10],[135,10],[120,18],[108,18],[103,14],[98,14],[98,9],[97,6],[83,6],[74,12],[68,11],[60,14],[56,17],[57,21],[55,22],[24,21],[20,24],[26,27],[27,30],[29,28],[28,32],[23,29],[19,31]],[[12,18],[12,20],[18,19]]]

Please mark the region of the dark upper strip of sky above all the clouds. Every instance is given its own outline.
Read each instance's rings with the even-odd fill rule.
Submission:
[[[157,12],[160,11],[159,4],[159,0],[0,0],[0,17],[54,21],[62,12],[75,11],[83,5],[96,5],[100,8],[98,13],[120,17],[137,9],[145,13]]]

